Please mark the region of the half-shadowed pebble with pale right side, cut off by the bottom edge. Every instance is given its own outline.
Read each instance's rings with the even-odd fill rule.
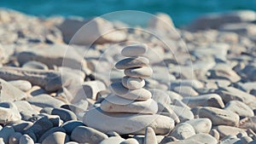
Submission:
[[[60,144],[60,143],[66,143],[69,141],[69,137],[61,131],[56,131],[55,133],[52,133],[48,135],[42,144]]]

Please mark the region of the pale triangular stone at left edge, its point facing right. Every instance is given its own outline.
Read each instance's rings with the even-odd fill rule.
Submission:
[[[2,68],[0,68],[2,69]],[[3,73],[2,73],[3,74]],[[0,70],[0,78],[1,77]],[[7,83],[3,79],[0,79],[0,101],[19,101],[22,99],[26,99],[27,95],[20,89],[15,88],[12,84]]]

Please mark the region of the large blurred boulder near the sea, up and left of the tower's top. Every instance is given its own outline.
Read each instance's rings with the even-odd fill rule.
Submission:
[[[125,32],[117,31],[111,22],[102,18],[91,20],[66,19],[63,20],[59,28],[64,41],[70,44],[117,43],[126,38]]]

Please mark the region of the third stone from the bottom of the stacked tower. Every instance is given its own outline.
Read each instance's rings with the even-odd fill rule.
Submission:
[[[145,101],[152,97],[147,89],[126,89],[120,82],[110,84],[109,89],[115,94],[128,100]]]

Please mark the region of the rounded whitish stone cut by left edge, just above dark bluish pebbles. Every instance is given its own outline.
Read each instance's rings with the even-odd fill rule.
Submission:
[[[21,119],[20,112],[12,102],[0,103],[0,124],[9,124]]]

